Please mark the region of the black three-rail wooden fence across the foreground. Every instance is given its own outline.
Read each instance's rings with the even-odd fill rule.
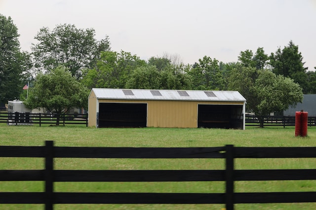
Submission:
[[[315,158],[316,147],[242,148],[84,148],[0,146],[0,157],[44,157],[44,170],[0,170],[1,181],[44,181],[44,192],[0,192],[1,204],[225,204],[316,202],[316,192],[235,192],[234,181],[316,180],[316,169],[235,170],[236,158]],[[54,170],[54,158],[225,158],[225,170]],[[225,181],[225,193],[54,192],[68,181]]]

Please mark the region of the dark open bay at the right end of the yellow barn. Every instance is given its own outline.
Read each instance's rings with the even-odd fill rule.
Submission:
[[[199,104],[197,127],[243,129],[242,105]]]

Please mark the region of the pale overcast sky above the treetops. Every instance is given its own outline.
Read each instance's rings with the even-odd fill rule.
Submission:
[[[236,62],[240,51],[270,55],[292,40],[304,66],[316,66],[316,0],[0,0],[0,14],[13,19],[26,51],[40,28],[74,24],[144,60]]]

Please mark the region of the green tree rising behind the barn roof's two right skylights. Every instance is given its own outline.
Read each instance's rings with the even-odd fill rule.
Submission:
[[[224,90],[226,81],[220,70],[218,60],[204,56],[188,72],[195,90]]]

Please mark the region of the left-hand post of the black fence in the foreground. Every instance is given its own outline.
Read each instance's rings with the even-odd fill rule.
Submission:
[[[54,142],[45,141],[45,210],[53,210]]]

